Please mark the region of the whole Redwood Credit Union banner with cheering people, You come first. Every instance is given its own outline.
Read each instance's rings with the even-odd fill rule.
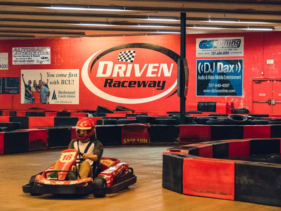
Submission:
[[[21,70],[21,103],[79,104],[79,69]]]

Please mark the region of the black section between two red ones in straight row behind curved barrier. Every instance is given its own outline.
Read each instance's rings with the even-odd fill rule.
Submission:
[[[243,139],[244,127],[242,125],[212,125],[211,140]]]

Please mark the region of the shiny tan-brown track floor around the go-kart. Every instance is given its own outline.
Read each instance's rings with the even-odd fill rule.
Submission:
[[[53,164],[63,148],[0,155],[0,210],[281,210],[254,203],[188,196],[162,188],[162,152],[169,147],[106,146],[103,157],[128,163],[137,175],[137,183],[105,198],[30,196],[22,192],[22,185]]]

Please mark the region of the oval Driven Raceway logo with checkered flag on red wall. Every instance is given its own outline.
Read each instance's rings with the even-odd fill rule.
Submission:
[[[81,78],[100,98],[116,103],[147,103],[175,94],[177,59],[168,48],[130,43],[95,52],[84,63]]]

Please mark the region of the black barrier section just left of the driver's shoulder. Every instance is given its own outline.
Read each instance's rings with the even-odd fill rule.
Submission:
[[[48,148],[67,147],[71,141],[71,127],[40,127],[48,129]]]

